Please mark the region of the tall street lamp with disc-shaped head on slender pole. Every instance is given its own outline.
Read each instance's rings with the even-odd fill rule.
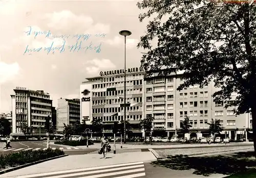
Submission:
[[[122,30],[119,32],[120,35],[124,36],[124,122],[123,122],[123,143],[126,140],[126,133],[125,133],[125,120],[126,120],[126,36],[132,35],[132,32],[128,30]]]

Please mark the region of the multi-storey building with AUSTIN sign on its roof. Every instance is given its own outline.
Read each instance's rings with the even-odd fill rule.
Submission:
[[[11,136],[23,136],[22,128],[26,124],[33,128],[33,135],[39,135],[44,128],[46,117],[52,116],[50,94],[42,90],[29,90],[16,87],[12,98]],[[50,120],[51,121],[51,120]]]

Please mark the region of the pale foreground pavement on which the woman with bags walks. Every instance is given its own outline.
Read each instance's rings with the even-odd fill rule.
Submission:
[[[88,168],[96,166],[106,166],[122,163],[132,163],[141,161],[155,161],[156,157],[150,151],[146,152],[125,152],[121,154],[107,154],[107,159],[102,159],[103,155],[72,155],[67,156],[1,175],[1,178],[15,177],[24,174],[45,173],[69,169]]]

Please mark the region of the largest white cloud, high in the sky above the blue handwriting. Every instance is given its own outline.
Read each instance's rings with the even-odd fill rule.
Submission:
[[[95,23],[92,17],[76,15],[69,10],[47,13],[44,17],[49,22],[47,26],[51,30],[72,30],[76,33],[109,33],[110,26],[103,23]]]

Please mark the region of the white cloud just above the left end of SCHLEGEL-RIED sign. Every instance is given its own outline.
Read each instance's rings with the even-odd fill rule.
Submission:
[[[116,65],[109,59],[93,59],[84,63],[87,65],[86,72],[91,75],[97,75],[102,69],[116,68]]]

